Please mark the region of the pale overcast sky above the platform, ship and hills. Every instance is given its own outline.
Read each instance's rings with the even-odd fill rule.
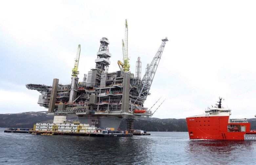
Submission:
[[[78,44],[80,80],[95,67],[102,37],[110,41],[109,72],[117,71],[127,19],[131,72],[141,57],[143,75],[161,39],[169,40],[145,102],[150,108],[166,98],[154,117],[202,114],[221,96],[232,118],[253,118],[255,8],[256,1],[235,0],[1,1],[0,113],[47,110],[25,84],[71,83]]]

